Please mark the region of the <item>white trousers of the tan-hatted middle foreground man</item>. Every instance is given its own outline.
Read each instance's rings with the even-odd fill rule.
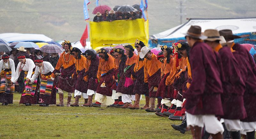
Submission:
[[[241,122],[239,119],[230,120],[230,119],[224,119],[225,126],[228,131],[240,131],[242,130]]]

